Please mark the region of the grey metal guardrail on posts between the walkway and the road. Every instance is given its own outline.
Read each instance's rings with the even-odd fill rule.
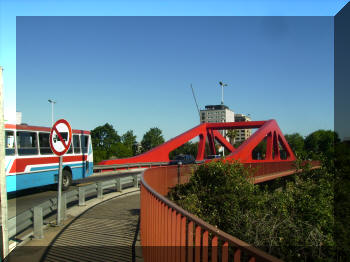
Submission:
[[[85,186],[79,186],[77,189],[62,193],[62,208],[61,217],[66,217],[67,205],[70,206],[78,204],[85,205],[87,197],[96,195],[98,199],[103,198],[104,189],[115,189],[116,192],[122,192],[124,186],[132,185],[138,187],[140,175],[123,175],[122,177],[113,178],[110,180],[92,182]],[[43,238],[44,218],[48,215],[57,213],[57,198],[51,198],[45,202],[32,207],[24,212],[21,212],[8,221],[9,239],[22,233],[30,227],[33,227],[34,238]]]

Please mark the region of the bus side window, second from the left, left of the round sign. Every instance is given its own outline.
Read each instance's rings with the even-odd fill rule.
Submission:
[[[17,150],[18,155],[37,155],[38,143],[35,132],[17,132]]]

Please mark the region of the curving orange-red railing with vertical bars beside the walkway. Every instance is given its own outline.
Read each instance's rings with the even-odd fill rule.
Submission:
[[[187,171],[181,174],[181,171]],[[141,176],[141,244],[147,261],[281,261],[189,213],[166,197],[168,187],[189,179],[188,166],[148,169]],[[162,192],[157,192],[162,191]],[[195,239],[195,244],[193,244]],[[211,243],[209,243],[211,239]],[[221,252],[218,252],[221,244]],[[209,252],[209,249],[211,252]],[[174,259],[175,258],[175,259]]]

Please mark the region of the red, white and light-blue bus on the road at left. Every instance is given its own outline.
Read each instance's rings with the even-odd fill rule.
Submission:
[[[59,157],[50,148],[51,128],[5,124],[7,192],[57,184]],[[89,131],[73,129],[72,143],[63,156],[62,189],[93,173]]]

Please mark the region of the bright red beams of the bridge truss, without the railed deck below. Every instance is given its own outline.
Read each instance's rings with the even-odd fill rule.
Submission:
[[[235,149],[217,130],[227,129],[252,129],[258,128],[258,130],[250,136],[241,146]],[[196,160],[203,160],[205,155],[206,141],[209,142],[209,147],[212,154],[215,152],[214,140],[217,140],[221,145],[227,148],[230,155],[226,159],[239,160],[242,163],[254,163],[254,162],[278,162],[278,161],[293,161],[295,156],[287,141],[285,140],[281,130],[279,129],[275,120],[268,121],[251,121],[251,122],[226,122],[226,123],[203,123],[200,124],[185,133],[178,135],[177,137],[159,145],[152,150],[140,154],[138,156],[124,158],[104,160],[100,165],[113,165],[113,164],[131,164],[131,163],[146,163],[146,162],[168,162],[169,153],[176,148],[182,146],[186,142],[199,136],[198,153]],[[254,148],[259,145],[261,141],[267,139],[267,149],[265,160],[254,160],[252,158],[252,152]],[[287,154],[286,160],[280,159],[279,147],[282,146]]]

